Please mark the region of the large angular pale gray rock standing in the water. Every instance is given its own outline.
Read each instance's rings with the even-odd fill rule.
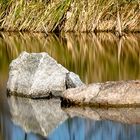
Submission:
[[[9,94],[31,98],[61,96],[67,88],[81,86],[78,75],[69,72],[47,53],[27,53],[10,64]]]

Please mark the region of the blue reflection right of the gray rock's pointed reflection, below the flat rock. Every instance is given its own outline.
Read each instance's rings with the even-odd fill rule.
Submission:
[[[139,140],[140,125],[74,117],[60,125],[49,140]]]

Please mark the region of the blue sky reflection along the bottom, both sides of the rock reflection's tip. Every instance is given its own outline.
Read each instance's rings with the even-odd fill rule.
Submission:
[[[5,122],[8,119],[5,119]],[[139,140],[140,125],[74,117],[58,126],[48,137],[26,133],[8,120],[1,140]]]

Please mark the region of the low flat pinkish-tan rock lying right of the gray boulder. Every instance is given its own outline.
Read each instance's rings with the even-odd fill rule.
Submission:
[[[68,89],[64,99],[79,105],[140,105],[140,81],[117,81],[84,85]]]

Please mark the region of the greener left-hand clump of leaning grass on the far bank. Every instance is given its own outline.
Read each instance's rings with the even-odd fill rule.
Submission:
[[[10,0],[0,28],[34,32],[58,30],[69,5],[70,0]]]

